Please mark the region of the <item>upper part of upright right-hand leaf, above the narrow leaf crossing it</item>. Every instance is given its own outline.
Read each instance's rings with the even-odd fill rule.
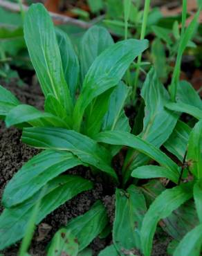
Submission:
[[[159,147],[172,133],[178,116],[164,108],[169,101],[169,93],[159,82],[153,68],[147,75],[141,96],[145,100],[145,118],[140,136]]]

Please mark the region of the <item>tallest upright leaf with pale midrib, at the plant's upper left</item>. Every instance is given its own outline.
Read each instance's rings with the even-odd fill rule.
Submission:
[[[53,21],[41,3],[33,4],[28,9],[24,37],[45,97],[53,94],[71,116],[72,99],[64,78]]]

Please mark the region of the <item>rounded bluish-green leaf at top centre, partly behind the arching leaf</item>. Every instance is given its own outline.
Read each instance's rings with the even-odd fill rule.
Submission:
[[[92,26],[84,33],[80,44],[82,82],[95,58],[111,45],[113,45],[113,39],[106,28]]]

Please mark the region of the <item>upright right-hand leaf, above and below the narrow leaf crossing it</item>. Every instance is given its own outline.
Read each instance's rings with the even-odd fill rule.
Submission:
[[[147,74],[141,95],[145,100],[145,118],[140,137],[160,147],[172,134],[178,116],[165,109],[165,104],[169,102],[169,93],[158,80],[153,68]],[[143,154],[129,150],[123,167],[124,180],[129,179],[132,170],[148,161]]]

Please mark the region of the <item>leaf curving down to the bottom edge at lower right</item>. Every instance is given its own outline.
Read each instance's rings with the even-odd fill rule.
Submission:
[[[168,217],[173,210],[192,197],[192,185],[192,183],[184,183],[175,188],[165,190],[150,205],[145,214],[140,232],[145,256],[151,255],[152,240],[158,221]]]

